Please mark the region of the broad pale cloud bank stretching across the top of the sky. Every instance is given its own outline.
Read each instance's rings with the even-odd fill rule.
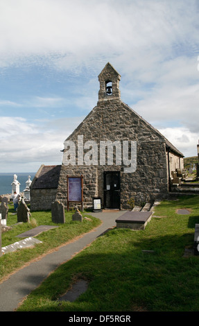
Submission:
[[[188,6],[189,3],[189,6]],[[151,60],[190,49],[198,43],[198,15],[192,1],[96,1],[96,0],[7,0],[0,5],[1,53],[4,65],[32,56],[56,67],[71,69],[89,65],[98,55],[135,64],[141,55],[143,67]],[[194,51],[196,51],[196,48]],[[193,49],[192,49],[193,51]],[[8,58],[10,53],[10,58]],[[155,55],[156,53],[156,55]],[[44,62],[43,61],[43,62]],[[3,57],[1,56],[3,65]],[[126,69],[128,65],[126,65]]]

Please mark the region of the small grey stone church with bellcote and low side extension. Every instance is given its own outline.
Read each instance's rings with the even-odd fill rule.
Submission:
[[[42,165],[31,185],[31,210],[69,205],[69,178],[82,178],[83,207],[100,198],[104,209],[166,198],[172,171],[184,155],[121,101],[121,76],[108,62],[98,76],[98,102],[64,141],[62,164]]]

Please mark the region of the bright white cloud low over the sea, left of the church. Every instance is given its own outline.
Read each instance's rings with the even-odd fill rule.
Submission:
[[[38,165],[44,162],[61,164],[60,151],[63,149],[64,140],[78,123],[79,117],[55,119],[42,121],[42,126],[38,127],[36,121],[28,123],[20,117],[1,117],[1,169],[6,169],[7,165],[18,165],[21,169],[26,166],[27,171],[27,167],[36,165],[38,168]]]

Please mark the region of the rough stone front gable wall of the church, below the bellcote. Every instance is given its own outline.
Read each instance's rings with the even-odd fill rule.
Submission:
[[[98,164],[78,166],[78,136],[83,135],[84,144],[93,140],[98,144]],[[141,201],[164,198],[168,194],[168,169],[165,139],[136,112],[121,101],[101,101],[89,113],[83,123],[74,130],[67,140],[76,144],[76,166],[64,166],[60,175],[58,195],[66,205],[66,175],[84,175],[85,206],[92,204],[93,196],[100,196],[103,202],[103,172],[121,171],[121,208],[126,209],[128,199]],[[123,162],[102,166],[100,162],[100,141],[137,141],[137,169],[134,173],[124,173]],[[84,155],[87,150],[84,151]],[[67,155],[67,148],[64,150]],[[63,158],[64,158],[63,155]],[[116,154],[114,153],[114,158]],[[63,162],[66,160],[63,159]]]

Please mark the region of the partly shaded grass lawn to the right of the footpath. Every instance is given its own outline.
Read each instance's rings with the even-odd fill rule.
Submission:
[[[190,214],[177,214],[180,208]],[[46,278],[18,310],[199,311],[199,257],[183,257],[185,248],[193,248],[196,223],[199,196],[164,200],[145,230],[115,228],[99,237]],[[58,301],[78,279],[89,282],[87,291],[74,302]]]

